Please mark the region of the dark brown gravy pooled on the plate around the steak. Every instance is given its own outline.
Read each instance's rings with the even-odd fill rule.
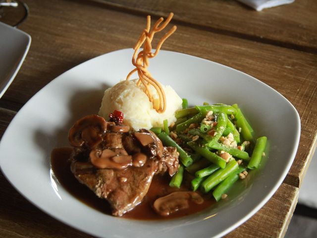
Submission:
[[[51,168],[58,182],[74,197],[82,201],[86,205],[108,215],[111,215],[111,208],[106,199],[101,199],[95,195],[86,185],[81,184],[70,171],[70,157],[72,153],[71,147],[56,148],[51,154]],[[177,211],[168,217],[158,215],[152,208],[154,201],[174,191],[188,190],[186,187],[173,188],[169,184],[170,178],[166,174],[164,176],[154,176],[150,189],[144,197],[142,203],[129,211],[123,218],[138,220],[161,220],[187,216],[197,213],[214,204],[214,200],[210,197],[204,197],[202,204],[189,202],[189,208]]]

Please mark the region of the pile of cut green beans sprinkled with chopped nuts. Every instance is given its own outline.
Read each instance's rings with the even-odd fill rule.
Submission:
[[[188,173],[194,176],[193,191],[212,192],[219,201],[238,179],[258,169],[267,138],[254,138],[254,130],[237,104],[204,103],[188,108],[183,99],[182,106],[172,126],[164,120],[163,128],[151,129],[164,146],[173,146],[179,153],[181,163],[169,185],[179,188]]]

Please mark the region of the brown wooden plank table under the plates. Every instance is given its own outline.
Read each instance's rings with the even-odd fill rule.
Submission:
[[[257,12],[234,0],[25,0],[20,29],[32,44],[0,99],[0,135],[42,87],[71,67],[132,47],[145,25],[175,13],[176,33],[165,50],[244,71],[285,96],[298,110],[302,133],[295,161],[273,197],[227,237],[283,237],[316,148],[317,1],[301,0]],[[315,146],[314,146],[315,145]],[[0,174],[0,237],[89,237],[40,211]]]

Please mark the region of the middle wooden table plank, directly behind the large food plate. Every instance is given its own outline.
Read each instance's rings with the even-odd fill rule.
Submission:
[[[0,105],[2,100],[23,105],[53,78],[78,63],[132,47],[145,26],[144,17],[113,11],[92,1],[26,2],[32,10],[21,29],[33,37],[30,52]],[[284,95],[297,108],[302,121],[299,150],[287,179],[300,186],[317,132],[316,55],[182,25],[163,49],[244,71]]]

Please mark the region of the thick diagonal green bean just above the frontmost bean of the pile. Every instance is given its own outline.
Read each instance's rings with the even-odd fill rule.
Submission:
[[[231,160],[224,169],[219,169],[202,182],[202,191],[205,193],[209,192],[214,186],[226,179],[232,173],[235,173],[237,168],[238,163],[235,160]]]

